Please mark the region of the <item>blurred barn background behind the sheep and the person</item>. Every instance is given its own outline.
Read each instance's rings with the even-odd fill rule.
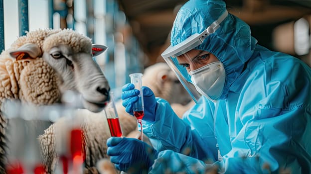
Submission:
[[[311,0],[225,0],[259,44],[311,65]],[[96,57],[113,89],[163,62],[176,12],[186,0],[0,0],[1,50],[25,31],[73,28],[109,47]],[[116,90],[121,91],[121,90]],[[118,92],[115,92],[118,95]]]

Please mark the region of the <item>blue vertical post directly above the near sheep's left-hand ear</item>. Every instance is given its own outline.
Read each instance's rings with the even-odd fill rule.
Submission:
[[[28,0],[18,0],[19,36],[26,35],[25,31],[29,31],[28,21]]]

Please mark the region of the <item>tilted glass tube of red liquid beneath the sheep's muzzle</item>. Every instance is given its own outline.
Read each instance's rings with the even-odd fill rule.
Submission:
[[[119,122],[118,112],[115,105],[115,100],[113,96],[113,92],[109,92],[110,101],[106,105],[104,111],[106,113],[107,122],[110,129],[110,134],[112,137],[121,137],[122,129]]]

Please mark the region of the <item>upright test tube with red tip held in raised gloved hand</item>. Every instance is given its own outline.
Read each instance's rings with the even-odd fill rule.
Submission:
[[[143,125],[142,119],[144,117],[144,95],[142,90],[142,73],[130,74],[131,83],[134,84],[135,89],[140,91],[138,95],[138,101],[134,104],[134,116],[137,118],[137,122],[141,125],[141,139],[143,140]]]

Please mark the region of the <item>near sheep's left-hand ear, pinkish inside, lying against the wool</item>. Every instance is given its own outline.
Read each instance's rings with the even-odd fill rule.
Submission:
[[[26,43],[9,54],[18,61],[26,58],[37,58],[42,55],[42,52],[37,44]]]

